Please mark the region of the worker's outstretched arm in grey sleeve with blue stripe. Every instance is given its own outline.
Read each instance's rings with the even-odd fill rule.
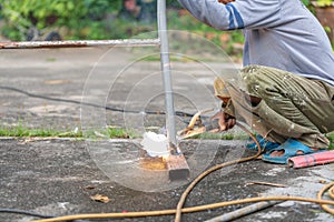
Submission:
[[[218,30],[269,28],[277,26],[282,17],[281,0],[178,1],[199,21]]]

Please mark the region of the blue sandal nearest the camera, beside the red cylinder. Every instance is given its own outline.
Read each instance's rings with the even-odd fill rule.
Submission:
[[[274,151],[284,151],[283,155],[279,157],[271,157]],[[303,153],[297,153],[302,151]],[[296,157],[296,155],[305,155],[311,153],[323,152],[324,150],[312,150],[307,145],[303,144],[302,142],[293,139],[286,140],[282,145],[272,149],[268,153],[262,155],[262,160],[272,162],[272,163],[281,163],[287,164],[287,159]]]

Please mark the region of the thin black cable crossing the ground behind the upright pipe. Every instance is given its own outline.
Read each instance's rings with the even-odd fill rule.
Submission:
[[[33,94],[33,93],[27,92],[24,90],[20,90],[20,89],[12,88],[12,87],[0,85],[0,89],[19,92],[21,94],[26,94],[31,98],[51,100],[51,101],[57,101],[57,102],[75,103],[75,104],[81,104],[81,105],[84,104],[84,105],[89,105],[89,107],[94,107],[94,108],[105,108],[106,110],[116,111],[116,112],[127,112],[127,113],[140,113],[141,112],[141,111],[136,111],[136,110],[124,110],[124,109],[119,109],[119,108],[104,107],[104,105],[99,105],[99,104],[81,102],[81,101],[76,101],[76,100],[59,99],[59,98],[40,95],[40,94]],[[145,114],[166,114],[166,113],[164,111],[145,111]],[[176,111],[175,114],[178,117],[189,117],[189,118],[194,115],[191,113],[187,113],[187,112],[183,112],[183,111]]]

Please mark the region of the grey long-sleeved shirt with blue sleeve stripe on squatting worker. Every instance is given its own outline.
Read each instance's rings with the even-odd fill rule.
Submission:
[[[218,30],[243,29],[244,65],[286,70],[334,85],[330,40],[299,0],[178,0],[195,18]]]

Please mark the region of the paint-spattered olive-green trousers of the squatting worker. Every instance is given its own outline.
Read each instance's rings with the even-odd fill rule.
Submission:
[[[227,81],[232,105],[226,112],[245,121],[268,141],[294,138],[312,148],[328,148],[323,134],[334,131],[334,87],[287,71],[248,65],[240,81]],[[256,98],[252,103],[249,98]],[[235,113],[230,113],[234,110]]]

